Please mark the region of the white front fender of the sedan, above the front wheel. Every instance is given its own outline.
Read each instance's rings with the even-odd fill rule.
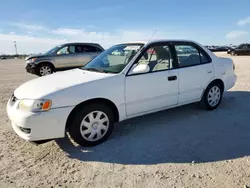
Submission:
[[[107,99],[117,107],[120,119],[123,120],[126,115],[124,91],[124,75],[120,75],[65,88],[46,98],[52,100],[53,108],[74,107],[92,99]]]

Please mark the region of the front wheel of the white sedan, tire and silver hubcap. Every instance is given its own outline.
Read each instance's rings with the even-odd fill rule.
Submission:
[[[114,115],[111,108],[104,104],[91,104],[75,114],[70,122],[69,134],[79,145],[89,147],[106,141],[113,128]]]

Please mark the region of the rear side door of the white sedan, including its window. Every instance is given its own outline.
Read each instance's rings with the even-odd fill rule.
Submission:
[[[214,77],[210,56],[191,42],[173,43],[179,70],[179,104],[197,101]]]

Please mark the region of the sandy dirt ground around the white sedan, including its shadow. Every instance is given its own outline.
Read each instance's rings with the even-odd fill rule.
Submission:
[[[250,186],[250,57],[233,60],[238,81],[217,110],[193,104],[131,119],[93,148],[68,138],[39,146],[19,138],[6,103],[36,76],[24,60],[0,61],[0,187]]]

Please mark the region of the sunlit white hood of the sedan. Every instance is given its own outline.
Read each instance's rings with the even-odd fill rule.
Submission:
[[[114,74],[72,69],[30,80],[19,86],[15,90],[14,95],[17,99],[42,99],[57,91],[113,75]]]

